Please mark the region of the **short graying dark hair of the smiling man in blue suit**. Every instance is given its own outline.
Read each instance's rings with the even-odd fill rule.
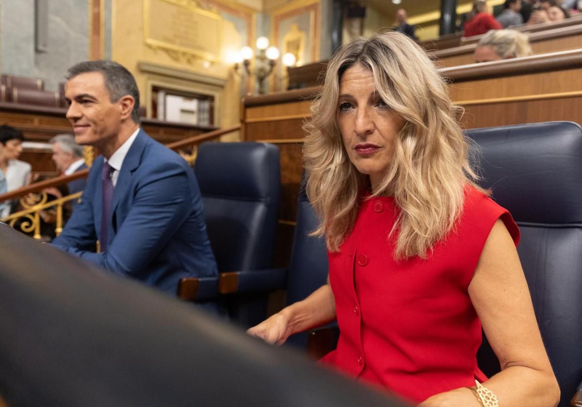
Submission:
[[[140,91],[132,73],[125,66],[107,59],[79,62],[69,68],[66,79],[87,72],[101,72],[105,81],[105,87],[109,92],[109,100],[117,102],[125,95],[130,95],[136,101],[133,105],[132,119],[140,123]]]

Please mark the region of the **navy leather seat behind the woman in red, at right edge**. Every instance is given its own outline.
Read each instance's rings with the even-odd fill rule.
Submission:
[[[582,128],[549,122],[478,128],[482,186],[521,230],[517,249],[550,362],[569,405],[582,380]],[[479,365],[499,363],[487,343]]]

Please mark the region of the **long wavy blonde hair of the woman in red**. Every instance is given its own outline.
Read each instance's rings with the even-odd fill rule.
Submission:
[[[357,64],[370,70],[380,97],[405,121],[395,137],[393,162],[372,197],[392,193],[400,208],[390,231],[398,234],[395,259],[424,259],[453,228],[466,185],[481,189],[456,119],[462,108],[450,102],[445,81],[423,49],[401,33],[361,38],[329,61],[304,125],[307,196],[321,220],[313,234],[325,234],[328,249],[339,251],[356,221],[361,194],[370,188],[368,176],[350,162],[337,121],[340,79]]]

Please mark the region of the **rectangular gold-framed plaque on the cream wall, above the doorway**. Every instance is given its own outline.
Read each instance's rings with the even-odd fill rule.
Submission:
[[[218,62],[222,17],[194,0],[144,0],[144,38],[148,47],[161,49],[177,62]]]

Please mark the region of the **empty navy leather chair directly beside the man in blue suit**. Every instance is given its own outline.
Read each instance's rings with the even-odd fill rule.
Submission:
[[[204,219],[219,273],[255,277],[272,266],[279,215],[279,150],[257,142],[204,143],[194,172],[204,201]],[[228,285],[232,279],[226,280]],[[182,279],[178,296],[190,301],[216,298],[219,279]],[[246,280],[245,280],[246,281]],[[264,318],[267,294],[219,298],[232,320],[243,325]]]

